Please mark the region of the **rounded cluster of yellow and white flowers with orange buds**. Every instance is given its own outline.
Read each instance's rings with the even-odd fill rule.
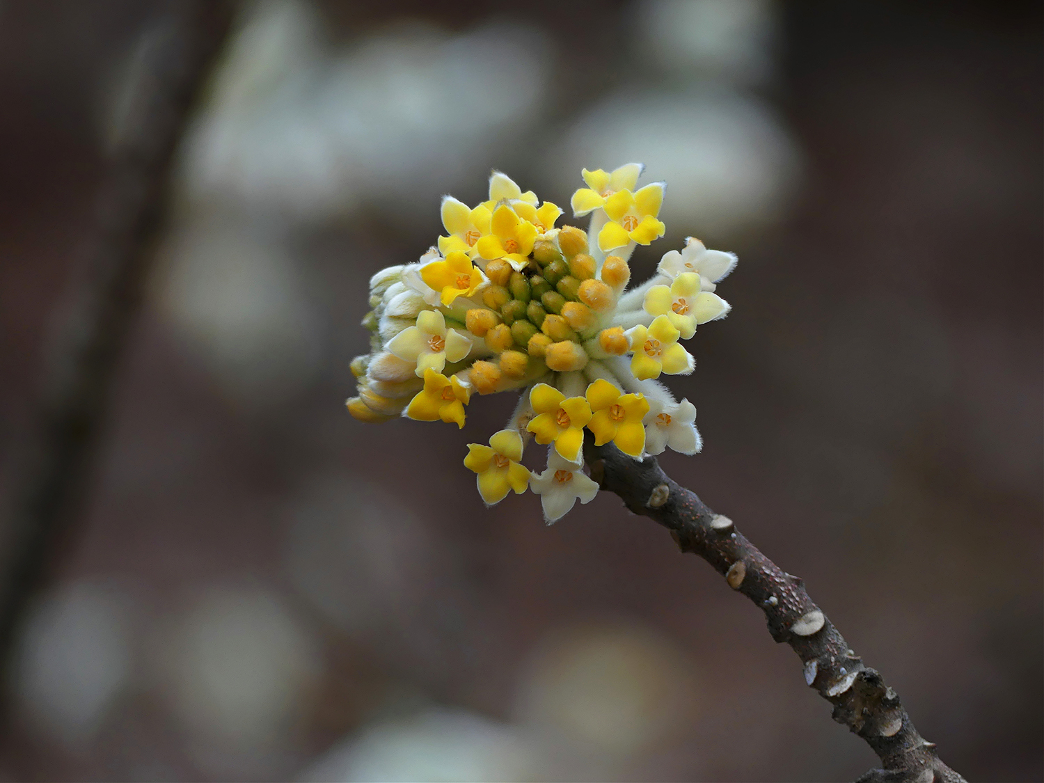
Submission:
[[[474,394],[521,390],[506,428],[489,446],[471,444],[464,461],[488,504],[532,489],[548,522],[598,491],[582,471],[585,429],[636,459],[698,451],[695,407],[656,379],[692,372],[679,340],[729,311],[714,290],[736,257],[690,237],[627,289],[635,246],[665,231],[665,186],[637,188],[641,173],[636,163],[583,171],[588,187],[571,206],[591,215],[586,232],[556,228],[559,207],[500,172],[477,207],[444,197],[446,236],[417,263],[371,280],[371,353],[352,362],[349,412],[462,427]],[[530,437],[548,446],[540,474],[520,464]]]

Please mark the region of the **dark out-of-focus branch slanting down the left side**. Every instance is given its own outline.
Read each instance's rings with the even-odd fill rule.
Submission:
[[[16,456],[0,594],[4,672],[55,545],[79,506],[115,371],[162,228],[171,163],[224,41],[232,4],[181,0],[142,37],[110,138],[96,228],[48,346],[35,421]]]

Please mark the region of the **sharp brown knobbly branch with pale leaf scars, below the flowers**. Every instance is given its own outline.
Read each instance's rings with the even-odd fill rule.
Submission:
[[[585,443],[591,477],[616,493],[635,514],[670,530],[683,552],[710,563],[733,590],[765,613],[768,633],[786,642],[805,664],[805,682],[833,705],[833,718],[862,737],[883,768],[859,783],[962,783],[944,764],[935,744],[918,734],[896,692],[852,650],[805,591],[804,580],[783,571],[736,530],[732,520],[708,508],[680,487],[655,457],[628,457],[612,444]]]

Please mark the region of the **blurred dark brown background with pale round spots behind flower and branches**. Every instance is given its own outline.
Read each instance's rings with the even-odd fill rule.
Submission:
[[[0,2],[0,478],[165,3]],[[1040,780],[1041,5],[244,3],[94,484],[11,673],[9,780],[847,780],[761,614],[603,493],[483,508],[468,426],[343,410],[366,284],[491,168],[666,180],[739,254],[666,470],[806,579],[969,779]],[[567,222],[572,222],[568,219]],[[586,220],[579,223],[586,224]]]

